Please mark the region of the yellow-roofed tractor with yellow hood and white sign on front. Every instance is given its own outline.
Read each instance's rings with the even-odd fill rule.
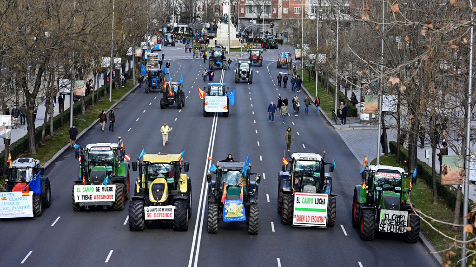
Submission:
[[[181,172],[188,172],[190,163],[183,162],[182,154],[163,153],[144,154],[138,162],[132,162],[134,172],[139,165],[139,178],[129,202],[129,230],[143,231],[146,220],[172,220],[175,231],[187,231],[192,183]]]

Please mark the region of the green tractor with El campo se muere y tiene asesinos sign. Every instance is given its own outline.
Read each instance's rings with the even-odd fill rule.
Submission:
[[[78,179],[74,181],[74,211],[102,206],[104,210],[124,210],[129,200],[129,162],[119,136],[118,143],[92,143],[75,151],[79,161]]]

